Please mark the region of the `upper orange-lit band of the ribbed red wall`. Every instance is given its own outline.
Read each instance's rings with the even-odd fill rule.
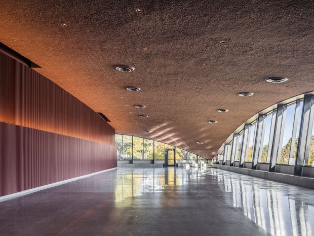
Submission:
[[[114,145],[114,129],[96,112],[1,52],[0,111],[0,122]]]

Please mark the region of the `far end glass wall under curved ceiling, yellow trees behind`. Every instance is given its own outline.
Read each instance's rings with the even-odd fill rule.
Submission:
[[[118,160],[165,160],[165,149],[175,149],[177,160],[207,160],[192,152],[162,142],[126,134],[115,134]]]

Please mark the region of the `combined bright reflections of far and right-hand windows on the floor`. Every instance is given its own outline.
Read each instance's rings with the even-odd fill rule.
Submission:
[[[176,186],[211,185],[208,191],[236,208],[273,236],[314,235],[314,191],[214,168],[155,168],[117,171],[115,202],[143,194],[165,192]],[[158,194],[153,205],[163,205]],[[130,203],[132,204],[132,203]],[[118,206],[118,205],[116,205]],[[123,205],[125,206],[125,205]],[[252,232],[252,234],[254,234]]]

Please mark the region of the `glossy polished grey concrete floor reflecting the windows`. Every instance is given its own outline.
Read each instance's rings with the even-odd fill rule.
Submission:
[[[0,203],[0,235],[314,235],[314,191],[214,168],[118,168]]]

